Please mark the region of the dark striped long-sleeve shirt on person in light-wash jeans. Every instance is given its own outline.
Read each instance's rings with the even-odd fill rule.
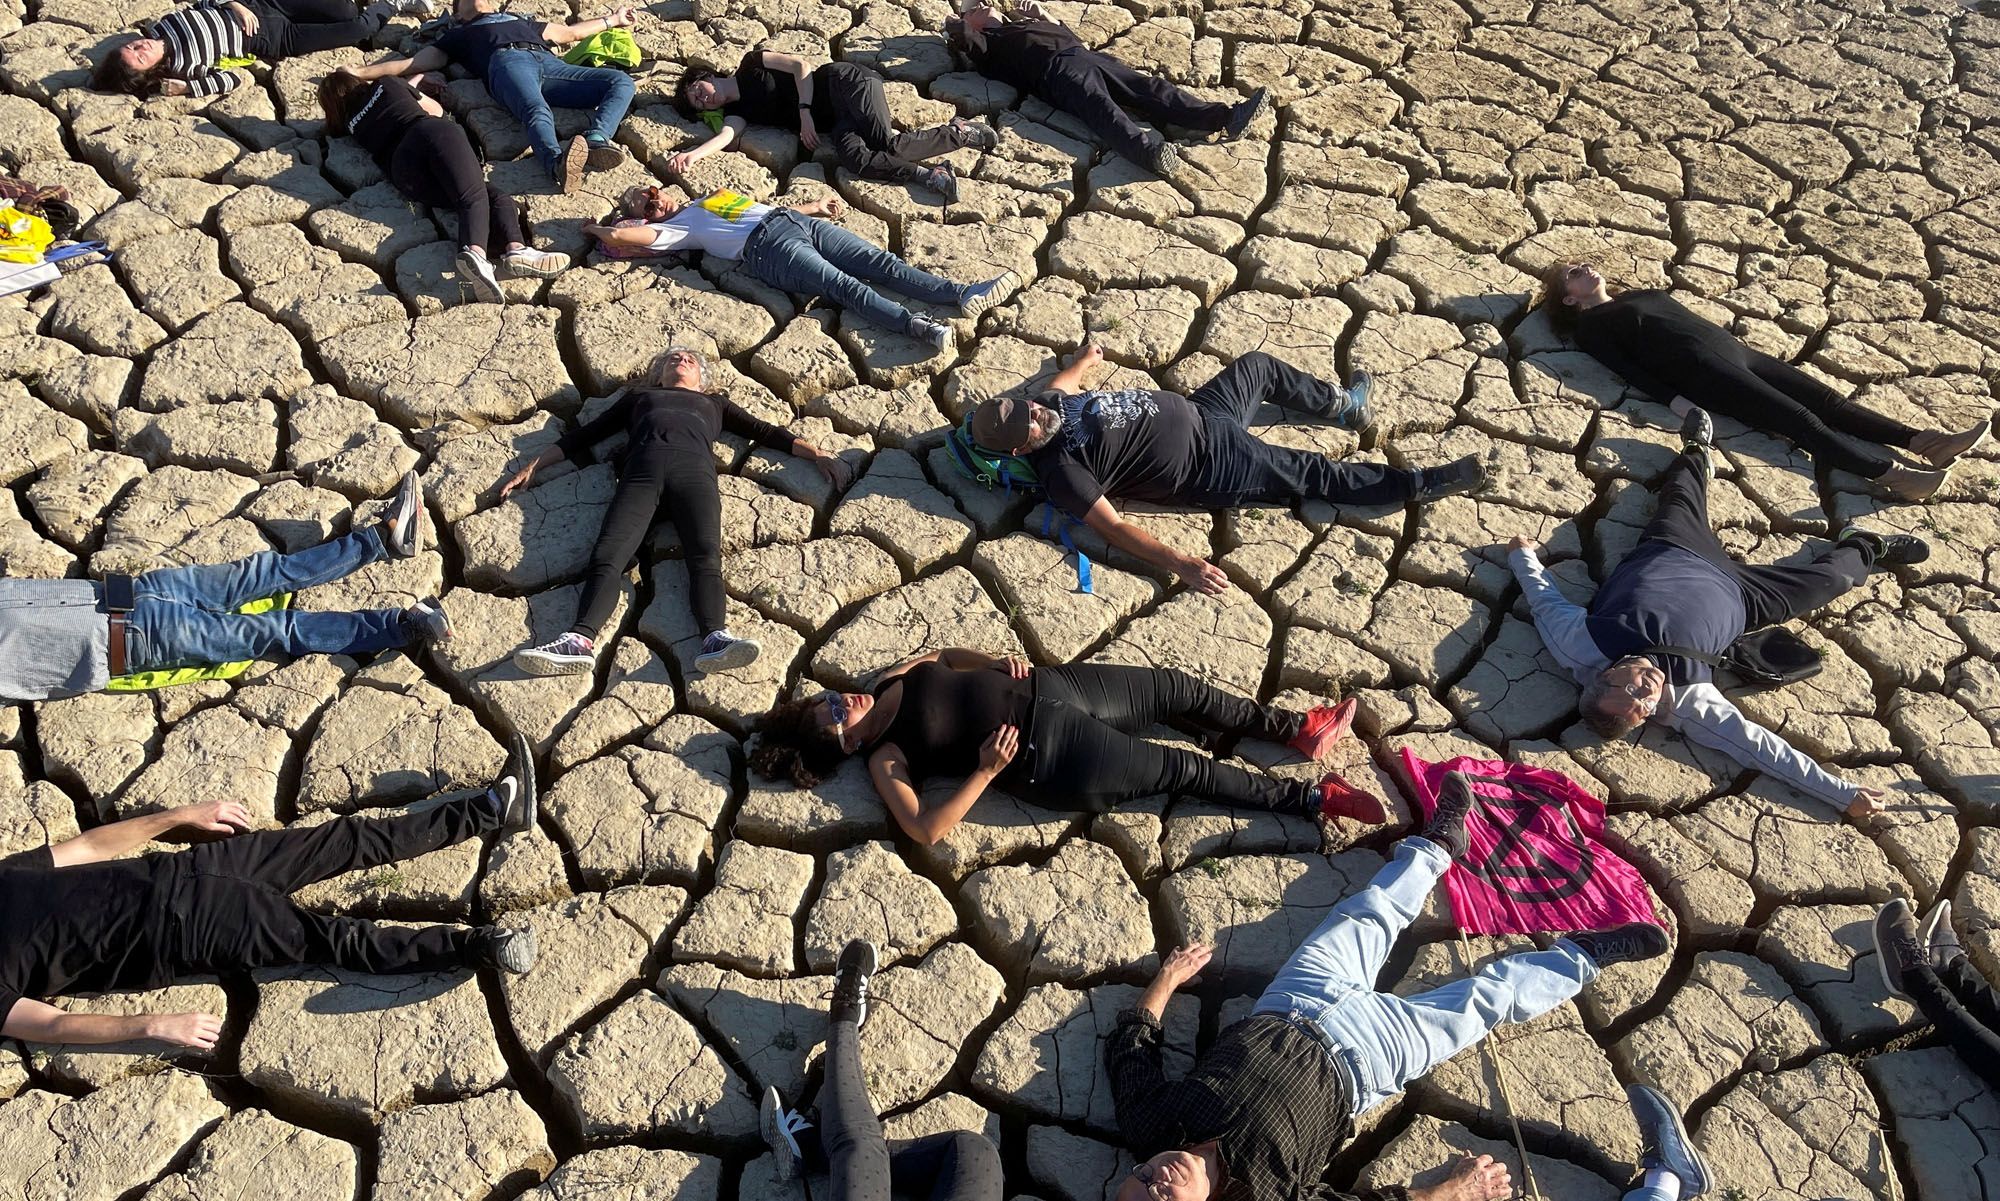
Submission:
[[[1166,1079],[1160,1021],[1118,1015],[1104,1043],[1118,1131],[1134,1155],[1216,1141],[1216,1201],[1408,1201],[1400,1185],[1342,1193],[1320,1181],[1354,1135],[1354,1097],[1326,1045],[1278,1015],[1222,1031],[1186,1077]]]

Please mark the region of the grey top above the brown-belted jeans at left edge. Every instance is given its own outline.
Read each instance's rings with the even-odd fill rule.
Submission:
[[[96,693],[112,679],[110,623],[90,580],[0,580],[0,701]]]

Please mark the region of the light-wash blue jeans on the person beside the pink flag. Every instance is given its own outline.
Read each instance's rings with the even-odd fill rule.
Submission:
[[[1252,1013],[1310,1021],[1342,1049],[1354,1077],[1354,1113],[1368,1113],[1410,1081],[1508,1021],[1528,1021],[1574,997],[1598,965],[1568,939],[1508,955],[1442,989],[1376,993],[1382,961],[1450,867],[1428,839],[1396,843],[1368,887],[1326,915],[1292,953]]]

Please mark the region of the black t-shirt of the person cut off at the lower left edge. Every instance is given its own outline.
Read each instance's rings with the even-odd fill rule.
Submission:
[[[0,859],[0,1021],[24,997],[164,985],[170,871],[162,855],[56,867],[40,847]]]

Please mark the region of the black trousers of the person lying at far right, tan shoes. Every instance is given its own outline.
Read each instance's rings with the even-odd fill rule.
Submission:
[[[1894,460],[1866,442],[1908,446],[1918,432],[1748,346],[1732,356],[1698,354],[1688,370],[1688,400],[1754,430],[1786,436],[1828,466],[1870,480]]]

